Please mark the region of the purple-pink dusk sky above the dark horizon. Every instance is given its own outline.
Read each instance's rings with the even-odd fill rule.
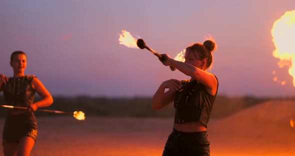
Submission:
[[[122,29],[174,57],[204,36],[214,36],[211,72],[219,94],[295,94],[287,68],[272,56],[270,29],[294,0],[1,0],[0,73],[12,75],[9,57],[27,53],[35,74],[53,95],[151,96],[170,71],[148,50],[118,43]],[[272,80],[272,70],[286,80]]]

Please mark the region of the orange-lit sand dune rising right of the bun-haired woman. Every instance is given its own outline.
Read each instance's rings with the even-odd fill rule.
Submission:
[[[295,155],[295,117],[291,100],[267,101],[208,127],[213,155]]]

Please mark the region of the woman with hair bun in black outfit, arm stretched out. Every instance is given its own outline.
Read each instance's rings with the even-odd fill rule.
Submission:
[[[174,101],[173,130],[162,155],[210,155],[207,123],[217,94],[218,79],[207,72],[212,64],[215,43],[205,40],[186,48],[185,61],[162,54],[164,65],[190,76],[187,80],[163,81],[153,95],[152,109],[157,110]],[[165,89],[168,89],[165,91]]]

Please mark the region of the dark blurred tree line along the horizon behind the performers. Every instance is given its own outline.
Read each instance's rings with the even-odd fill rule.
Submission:
[[[285,98],[293,99],[293,97]],[[36,97],[36,100],[38,99],[39,97]],[[173,117],[174,115],[172,103],[161,110],[152,110],[151,97],[53,96],[53,99],[53,104],[46,109],[69,112],[75,110],[83,111],[86,116]],[[211,118],[222,118],[244,108],[271,99],[280,98],[254,96],[228,97],[219,95],[216,97],[213,105]],[[3,96],[0,96],[0,104],[5,104]],[[36,116],[62,115],[42,111],[36,111],[35,114]],[[0,117],[4,115],[5,108],[0,108]]]

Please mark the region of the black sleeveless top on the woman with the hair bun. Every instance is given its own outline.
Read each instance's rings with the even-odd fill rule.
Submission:
[[[217,79],[217,90],[218,85]],[[215,95],[211,95],[197,80],[181,80],[181,88],[174,99],[174,123],[196,121],[207,127],[216,95],[217,91]]]

